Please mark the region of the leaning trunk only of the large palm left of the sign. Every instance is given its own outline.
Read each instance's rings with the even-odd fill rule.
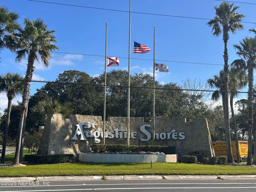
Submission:
[[[22,131],[23,131],[23,122],[24,122],[24,117],[26,113],[28,97],[30,93],[31,79],[33,77],[33,72],[35,70],[35,67],[34,67],[35,54],[36,54],[35,51],[33,50],[29,51],[28,66],[27,66],[27,71],[25,76],[25,86],[22,93],[21,115],[20,115],[20,122],[19,122],[16,150],[15,150],[14,165],[17,165],[20,163],[20,147],[21,147],[21,139],[22,139]]]

